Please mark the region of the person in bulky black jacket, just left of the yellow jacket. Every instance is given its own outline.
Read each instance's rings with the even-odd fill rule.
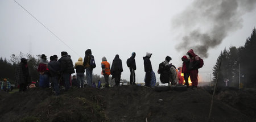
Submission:
[[[75,73],[73,61],[68,57],[68,53],[63,51],[61,52],[60,62],[60,73],[63,78],[65,90],[69,90],[71,86],[71,74]]]

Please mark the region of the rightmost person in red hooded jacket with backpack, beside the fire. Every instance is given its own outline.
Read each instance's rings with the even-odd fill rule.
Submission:
[[[198,66],[200,65],[200,61],[199,61],[199,57],[194,53],[193,49],[189,50],[187,54],[190,58],[188,69],[190,73],[190,79],[192,82],[191,89],[195,89],[198,84],[197,76],[198,76]]]

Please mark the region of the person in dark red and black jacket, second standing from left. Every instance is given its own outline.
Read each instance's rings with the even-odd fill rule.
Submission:
[[[49,69],[47,69],[47,57],[45,54],[41,55],[41,60],[39,62],[38,66],[38,72],[39,72],[39,86],[42,88],[49,87]]]

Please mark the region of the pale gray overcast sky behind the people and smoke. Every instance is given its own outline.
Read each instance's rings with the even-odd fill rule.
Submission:
[[[172,64],[181,66],[183,49],[177,51],[182,43],[184,30],[174,24],[184,11],[193,6],[193,1],[27,1],[16,0],[49,30],[60,37],[79,56],[61,43],[46,28],[38,23],[12,0],[0,1],[0,56],[10,59],[11,54],[23,53],[46,54],[47,57],[61,51],[67,51],[75,64],[79,57],[84,58],[86,49],[92,49],[96,60],[94,74],[101,73],[101,58],[105,56],[112,62],[115,54],[119,54],[123,62],[121,78],[129,81],[130,71],[126,60],[132,52],[136,52],[136,79],[143,82],[144,67],[142,57],[151,52],[151,63],[155,73],[160,62],[168,55]],[[220,0],[218,0],[220,1]],[[193,7],[192,7],[193,8]],[[244,8],[241,7],[240,11]],[[213,10],[214,11],[214,10]],[[216,10],[217,11],[217,10]],[[188,14],[188,13],[187,13]],[[219,45],[208,49],[208,58],[204,58],[205,66],[199,69],[200,81],[209,81],[209,73],[216,64],[220,52],[232,45],[240,47],[245,44],[256,24],[256,10],[241,13],[240,24],[236,29],[228,31]],[[202,17],[202,16],[201,16]],[[203,16],[204,17],[204,16]],[[231,20],[233,21],[233,20]],[[189,27],[200,26],[202,30],[210,30],[213,23],[193,22]],[[225,24],[224,24],[225,25]],[[197,53],[197,52],[195,52]],[[157,81],[159,74],[156,73]]]

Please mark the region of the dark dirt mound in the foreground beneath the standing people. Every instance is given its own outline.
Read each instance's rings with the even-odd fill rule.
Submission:
[[[0,94],[1,95],[1,94]],[[0,121],[207,121],[211,95],[203,90],[156,92],[144,86],[15,92],[1,99]],[[214,100],[211,121],[253,121]]]

